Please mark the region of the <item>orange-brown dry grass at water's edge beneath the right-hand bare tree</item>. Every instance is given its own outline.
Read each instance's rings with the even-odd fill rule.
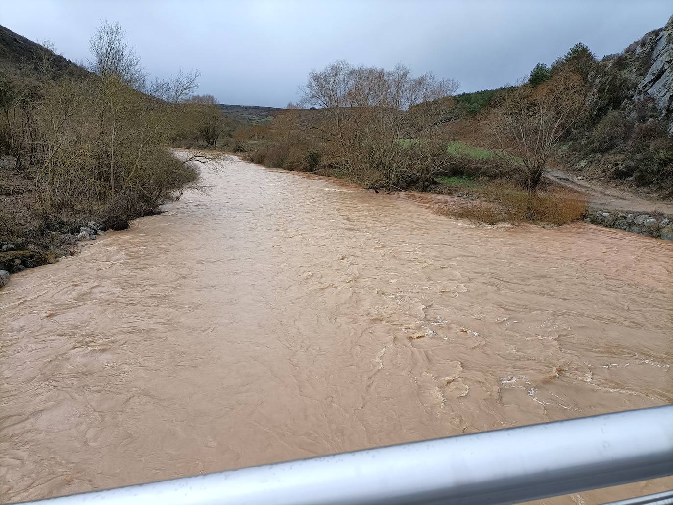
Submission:
[[[437,213],[474,224],[511,226],[521,222],[561,226],[580,220],[586,213],[583,195],[567,189],[528,195],[507,184],[493,184],[480,191],[479,196],[479,200],[440,205]]]

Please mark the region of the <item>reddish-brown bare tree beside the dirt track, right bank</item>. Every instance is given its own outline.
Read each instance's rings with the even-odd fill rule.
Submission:
[[[582,85],[581,77],[572,73],[561,73],[537,87],[522,85],[507,94],[489,118],[493,131],[489,149],[531,195],[558,155],[559,143],[581,116]]]

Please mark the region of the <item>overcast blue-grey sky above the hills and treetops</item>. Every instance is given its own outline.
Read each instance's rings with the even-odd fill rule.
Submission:
[[[127,30],[152,75],[201,71],[221,103],[285,106],[312,68],[335,59],[496,88],[575,42],[602,57],[666,24],[673,0],[1,0],[0,24],[88,57],[100,21]]]

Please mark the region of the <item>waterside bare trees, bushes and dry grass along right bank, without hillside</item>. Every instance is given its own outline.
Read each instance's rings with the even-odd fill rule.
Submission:
[[[443,215],[563,224],[582,217],[581,199],[542,195],[538,187],[582,118],[582,86],[581,75],[565,66],[544,83],[491,94],[499,104],[482,116],[483,147],[474,147],[456,135],[454,125],[470,110],[454,98],[456,81],[413,77],[403,65],[336,61],[310,73],[299,104],[236,138],[253,162],[345,177],[376,192],[441,193],[437,187],[450,187],[444,181],[481,181],[480,191],[466,192],[481,203],[456,203],[464,209],[446,207]]]

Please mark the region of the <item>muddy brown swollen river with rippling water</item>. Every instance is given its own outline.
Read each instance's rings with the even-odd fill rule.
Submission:
[[[205,180],[0,291],[0,502],[673,403],[672,243]]]

